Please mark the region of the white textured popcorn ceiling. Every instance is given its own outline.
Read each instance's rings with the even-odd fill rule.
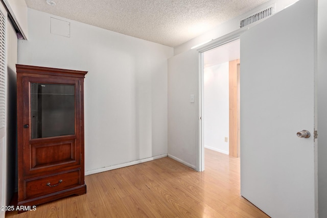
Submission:
[[[29,8],[168,46],[180,45],[268,0],[25,0]]]

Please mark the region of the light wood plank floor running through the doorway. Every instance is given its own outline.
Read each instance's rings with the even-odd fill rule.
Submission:
[[[240,159],[207,149],[204,172],[166,157],[85,182],[85,195],[6,217],[269,217],[240,196]]]

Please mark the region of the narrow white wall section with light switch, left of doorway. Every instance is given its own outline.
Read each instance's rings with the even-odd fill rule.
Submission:
[[[168,60],[168,155],[198,170],[199,55],[190,50]],[[190,95],[194,95],[191,103]]]

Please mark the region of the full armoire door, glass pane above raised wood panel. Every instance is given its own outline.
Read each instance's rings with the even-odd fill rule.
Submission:
[[[23,78],[24,175],[80,164],[79,80]]]

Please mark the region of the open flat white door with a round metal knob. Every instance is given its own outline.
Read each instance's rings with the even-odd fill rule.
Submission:
[[[315,2],[241,35],[241,195],[271,217],[317,216]]]

